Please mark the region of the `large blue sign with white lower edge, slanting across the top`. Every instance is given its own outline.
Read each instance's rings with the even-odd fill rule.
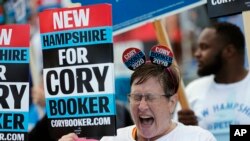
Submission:
[[[136,28],[150,20],[190,9],[206,0],[71,0],[82,5],[110,3],[113,11],[114,34]]]

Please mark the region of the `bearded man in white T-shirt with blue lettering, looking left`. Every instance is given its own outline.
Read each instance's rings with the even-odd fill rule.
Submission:
[[[201,78],[186,87],[198,125],[211,131],[218,141],[229,141],[231,124],[250,123],[250,74],[244,67],[245,39],[231,23],[206,27],[198,38],[195,57]],[[194,124],[191,110],[178,112],[184,124]]]

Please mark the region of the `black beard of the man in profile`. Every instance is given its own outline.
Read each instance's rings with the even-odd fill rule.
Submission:
[[[203,66],[202,68],[198,69],[197,74],[199,76],[207,76],[211,74],[216,74],[222,67],[223,61],[222,61],[222,51],[220,51],[214,58],[213,61]]]

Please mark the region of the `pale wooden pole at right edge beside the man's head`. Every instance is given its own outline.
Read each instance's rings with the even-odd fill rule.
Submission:
[[[244,24],[244,32],[245,32],[245,41],[246,41],[246,49],[247,49],[247,58],[248,65],[250,68],[250,11],[242,12],[243,15],[243,24]]]

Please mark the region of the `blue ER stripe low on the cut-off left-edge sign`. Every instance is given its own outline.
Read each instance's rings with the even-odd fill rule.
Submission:
[[[28,132],[29,112],[1,111],[0,132]]]

